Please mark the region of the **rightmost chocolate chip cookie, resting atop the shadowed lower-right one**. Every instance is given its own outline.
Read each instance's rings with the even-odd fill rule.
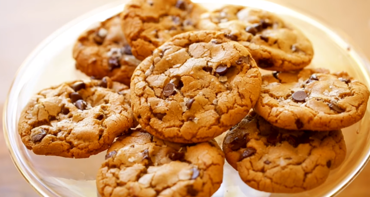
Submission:
[[[262,77],[255,111],[276,127],[332,131],[360,121],[368,99],[368,88],[345,72],[274,72]]]

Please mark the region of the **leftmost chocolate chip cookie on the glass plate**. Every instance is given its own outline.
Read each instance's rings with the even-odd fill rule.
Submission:
[[[44,89],[21,113],[18,132],[37,155],[88,158],[111,145],[134,125],[128,87],[103,80],[75,81]]]

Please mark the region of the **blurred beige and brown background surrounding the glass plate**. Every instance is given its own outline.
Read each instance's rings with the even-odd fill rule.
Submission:
[[[0,0],[0,112],[18,67],[74,18],[114,0]],[[370,59],[370,0],[270,0],[326,22]],[[72,55],[72,52],[71,52]],[[0,113],[0,120],[2,120]],[[369,197],[370,165],[338,197]],[[13,165],[0,122],[0,197],[38,197]]]

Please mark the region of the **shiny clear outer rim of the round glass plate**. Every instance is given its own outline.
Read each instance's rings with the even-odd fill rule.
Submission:
[[[114,7],[122,5],[125,1],[127,1],[127,0],[117,0],[117,1],[111,2],[109,4],[106,4],[104,6],[99,7],[97,9],[89,11],[86,14],[83,14],[82,16],[80,16],[80,17],[72,20],[71,22],[67,23],[66,25],[62,26],[60,29],[58,29],[57,31],[55,31],[54,33],[49,35],[46,39],[44,39],[31,52],[31,54],[25,59],[25,61],[19,67],[19,69],[17,70],[17,72],[16,72],[16,74],[13,78],[13,82],[10,86],[9,91],[8,91],[8,96],[7,96],[7,98],[4,102],[4,108],[3,108],[3,120],[2,121],[3,121],[3,132],[4,132],[5,143],[8,147],[8,151],[10,153],[10,156],[11,156],[11,159],[12,159],[14,165],[16,166],[18,171],[22,174],[22,176],[25,178],[25,180],[32,186],[32,188],[40,196],[43,196],[43,197],[50,197],[50,196],[57,197],[55,194],[51,193],[49,188],[40,184],[40,182],[39,182],[39,180],[37,180],[37,176],[35,174],[30,173],[30,172],[26,172],[25,168],[27,166],[25,166],[25,164],[23,164],[23,162],[20,161],[20,158],[15,154],[16,150],[10,144],[10,135],[8,133],[8,131],[9,131],[8,127],[12,124],[14,126],[15,122],[11,122],[11,121],[8,122],[9,121],[8,116],[10,115],[9,117],[12,117],[16,114],[14,114],[14,112],[12,112],[10,110],[10,109],[12,109],[12,107],[9,106],[8,100],[13,98],[14,96],[17,96],[17,95],[15,95],[15,93],[18,93],[20,91],[19,89],[21,89],[21,87],[18,87],[17,85],[20,84],[22,81],[27,80],[27,78],[21,78],[20,76],[24,75],[24,72],[26,71],[26,67],[30,64],[30,62],[32,62],[32,60],[37,56],[37,54],[45,46],[48,45],[48,43],[52,42],[60,34],[64,33],[65,31],[67,31],[71,27],[77,25],[78,23],[84,21],[85,19],[87,19],[89,17],[92,17],[93,15],[95,15],[97,13],[107,11],[109,9],[113,9]],[[209,3],[210,2],[210,0],[193,0],[193,1],[194,2],[199,2],[199,3]],[[224,4],[224,2],[222,0],[213,0],[212,2],[213,3],[222,3],[222,4]],[[361,52],[359,47],[357,47],[356,44],[354,44],[353,42],[351,42],[351,44],[349,44],[348,42],[343,40],[342,37],[348,37],[348,36],[346,36],[344,33],[338,33],[336,31],[333,31],[333,28],[328,26],[325,22],[322,22],[322,20],[318,20],[317,18],[312,17],[310,14],[307,14],[307,13],[304,13],[304,12],[303,12],[304,14],[299,13],[299,12],[295,11],[295,9],[291,8],[290,6],[286,6],[286,5],[282,6],[282,5],[279,5],[277,3],[270,2],[270,1],[265,1],[265,0],[258,0],[258,1],[255,1],[255,0],[243,0],[243,1],[241,1],[241,0],[228,0],[227,3],[228,4],[249,5],[249,6],[252,6],[252,7],[260,7],[261,4],[264,4],[264,5],[269,5],[270,7],[274,6],[273,9],[275,11],[276,11],[276,8],[279,8],[282,12],[284,11],[285,14],[287,12],[294,13],[294,15],[297,16],[298,18],[300,18],[301,20],[307,21],[310,24],[312,24],[312,25],[318,27],[319,29],[323,30],[325,33],[329,34],[333,38],[333,40],[340,47],[342,47],[343,49],[346,49],[348,46],[350,46],[351,50],[348,52],[348,54],[352,57],[353,60],[356,61],[356,63],[358,65],[362,65],[362,66],[360,66],[360,68],[361,68],[362,72],[367,73],[365,75],[366,80],[367,80],[368,83],[370,82],[370,72],[369,72],[370,63],[365,58],[365,56],[363,55],[363,53]],[[269,10],[269,8],[268,8],[269,6],[264,7],[264,9]],[[17,88],[15,89],[15,87],[17,87]],[[14,105],[12,105],[12,106],[14,106]],[[370,136],[368,136],[368,141],[370,141],[369,137]],[[346,177],[346,179],[344,179],[331,193],[327,194],[326,196],[327,197],[333,197],[333,196],[339,194],[343,189],[345,189],[357,177],[357,175],[362,171],[362,169],[365,167],[365,165],[369,162],[369,159],[370,159],[370,149],[368,149],[368,152],[367,152],[366,156],[363,158],[363,160],[361,161],[361,164],[358,165],[356,168],[354,168],[352,173],[350,173]],[[48,192],[47,193],[44,192],[41,188],[47,189]]]

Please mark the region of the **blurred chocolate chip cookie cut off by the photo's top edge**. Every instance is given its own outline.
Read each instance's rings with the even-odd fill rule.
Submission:
[[[139,60],[172,36],[194,31],[206,9],[190,0],[131,0],[122,13],[123,32]]]

